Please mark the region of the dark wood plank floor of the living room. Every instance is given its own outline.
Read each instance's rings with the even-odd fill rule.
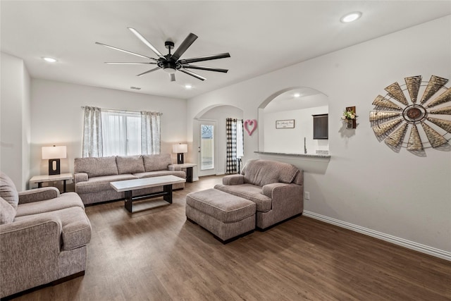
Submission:
[[[305,216],[222,245],[185,217],[187,192],[220,181],[134,214],[87,207],[85,276],[16,300],[451,300],[451,262]]]

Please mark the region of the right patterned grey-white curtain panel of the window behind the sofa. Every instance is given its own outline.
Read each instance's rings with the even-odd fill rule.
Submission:
[[[160,116],[163,113],[141,112],[141,150],[142,154],[159,154],[161,147]]]

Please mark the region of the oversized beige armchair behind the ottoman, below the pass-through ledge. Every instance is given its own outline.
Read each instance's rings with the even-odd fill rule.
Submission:
[[[249,199],[257,205],[257,228],[265,229],[304,209],[303,173],[291,164],[253,159],[240,175],[223,178],[216,190]]]

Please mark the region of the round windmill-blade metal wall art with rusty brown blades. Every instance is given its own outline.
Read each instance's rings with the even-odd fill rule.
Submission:
[[[451,88],[445,87],[447,78],[432,75],[423,82],[418,75],[404,80],[404,85],[394,82],[385,88],[385,97],[378,95],[374,100],[376,107],[369,113],[374,133],[393,149],[406,147],[421,152],[446,145],[451,140]]]

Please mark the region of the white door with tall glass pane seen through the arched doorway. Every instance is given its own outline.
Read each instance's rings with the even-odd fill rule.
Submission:
[[[216,121],[200,121],[199,133],[199,176],[216,175]]]

